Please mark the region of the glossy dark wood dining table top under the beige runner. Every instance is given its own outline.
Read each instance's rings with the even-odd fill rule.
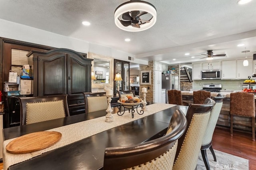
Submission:
[[[8,170],[98,170],[102,169],[106,147],[143,143],[166,132],[176,109],[186,113],[188,106],[173,106],[141,119],[97,133],[70,145],[51,150],[30,160],[14,164]],[[106,111],[73,115],[39,123],[3,129],[4,140],[53,129],[106,115]],[[84,129],[86,131],[86,129]]]

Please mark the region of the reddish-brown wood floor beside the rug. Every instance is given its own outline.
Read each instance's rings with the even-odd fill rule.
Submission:
[[[230,136],[229,129],[216,127],[212,137],[213,149],[220,150],[249,160],[249,170],[256,170],[256,142],[252,141],[252,134],[233,132]],[[0,163],[0,170],[3,163]]]

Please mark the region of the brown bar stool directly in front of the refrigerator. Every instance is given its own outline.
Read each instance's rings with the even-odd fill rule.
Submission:
[[[182,101],[182,94],[180,90],[168,90],[168,104],[177,104],[188,106],[187,102]]]

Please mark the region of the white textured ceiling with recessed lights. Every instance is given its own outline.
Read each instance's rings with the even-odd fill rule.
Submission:
[[[127,1],[0,0],[0,18],[168,64],[198,61],[207,50],[226,53],[224,59],[244,57],[245,47],[249,57],[256,53],[256,0],[242,6],[237,0],[146,0],[156,7],[157,21],[140,32],[114,23],[114,10]]]

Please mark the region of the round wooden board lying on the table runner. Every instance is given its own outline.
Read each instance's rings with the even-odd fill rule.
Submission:
[[[40,131],[20,136],[6,146],[10,153],[21,154],[42,150],[54,145],[61,139],[61,133],[56,131]]]

